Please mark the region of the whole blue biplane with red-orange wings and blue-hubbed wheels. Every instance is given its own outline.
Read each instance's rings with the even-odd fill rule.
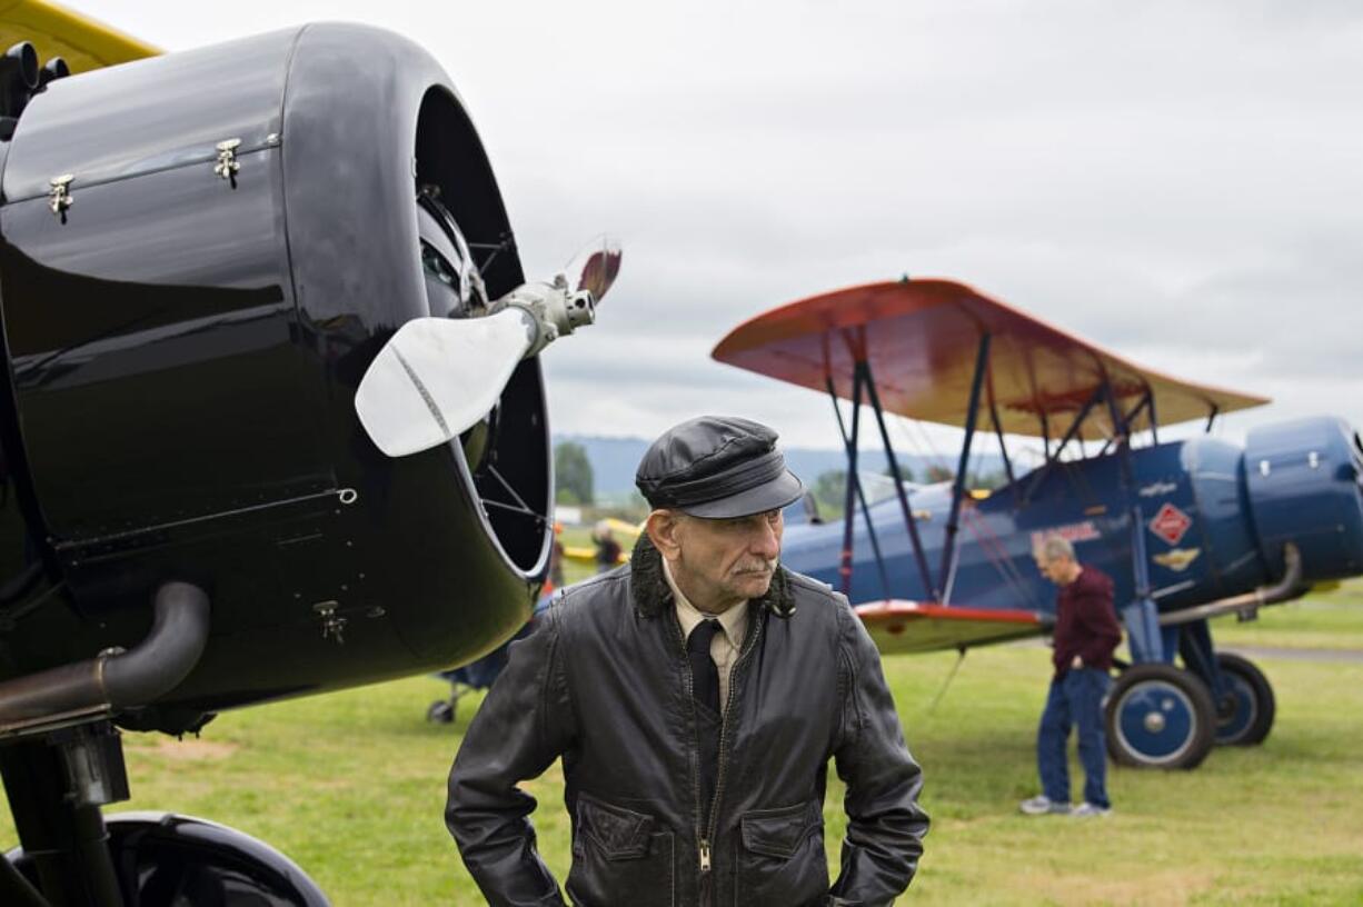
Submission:
[[[1033,550],[1047,534],[1111,575],[1133,662],[1107,707],[1120,763],[1191,768],[1213,744],[1261,742],[1273,689],[1216,651],[1209,618],[1253,618],[1363,572],[1363,443],[1347,424],[1264,426],[1243,448],[1206,433],[1160,443],[1160,425],[1210,430],[1268,400],[1138,368],[961,283],[816,296],[739,325],[713,355],[831,398],[845,518],[789,526],[782,560],[841,588],[883,652],[1045,633],[1055,588]],[[867,406],[894,473],[879,503],[857,475]],[[962,428],[954,481],[904,482],[886,413]],[[1009,481],[977,497],[965,477],[984,432]],[[1015,471],[1005,436],[1039,437],[1044,463]]]

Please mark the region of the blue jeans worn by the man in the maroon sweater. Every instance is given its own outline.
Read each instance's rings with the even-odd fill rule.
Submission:
[[[1070,802],[1070,765],[1065,745],[1070,727],[1079,733],[1079,764],[1084,765],[1084,799],[1111,806],[1107,798],[1107,739],[1103,731],[1103,697],[1112,678],[1097,667],[1065,671],[1051,681],[1036,733],[1036,767],[1041,791],[1056,803]]]

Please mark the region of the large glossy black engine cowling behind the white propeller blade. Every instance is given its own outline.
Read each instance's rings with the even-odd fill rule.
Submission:
[[[466,662],[525,622],[538,362],[463,444],[408,458],[353,406],[432,315],[418,191],[489,297],[523,281],[435,60],[348,25],[153,57],[52,82],[0,154],[0,680],[136,646],[172,580],[207,592],[207,646],[128,726]]]

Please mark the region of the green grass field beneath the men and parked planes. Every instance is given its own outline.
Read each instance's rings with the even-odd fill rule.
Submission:
[[[1217,629],[1264,647],[1363,640],[1360,599],[1356,583]],[[1278,699],[1264,746],[1216,750],[1194,772],[1114,771],[1115,813],[1082,821],[1015,813],[1036,793],[1044,651],[970,652],[930,712],[954,658],[886,662],[934,817],[904,903],[1363,903],[1363,663],[1264,659]],[[477,703],[461,701],[453,726],[425,723],[443,692],[410,678],[226,714],[202,739],[128,734],[134,799],[119,809],[174,809],[269,840],[338,907],[481,903],[442,823],[446,772]],[[559,767],[527,787],[541,802],[542,853],[562,878]],[[834,866],[840,802],[831,779]],[[12,840],[0,816],[0,842]]]

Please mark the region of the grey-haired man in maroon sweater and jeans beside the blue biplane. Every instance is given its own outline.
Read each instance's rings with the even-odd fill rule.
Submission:
[[[1041,711],[1036,734],[1036,764],[1041,795],[1022,801],[1028,816],[1105,816],[1108,801],[1107,741],[1103,731],[1103,697],[1112,678],[1112,651],[1122,641],[1122,628],[1112,607],[1112,580],[1074,557],[1074,547],[1059,535],[1047,537],[1036,553],[1041,573],[1060,587],[1055,606],[1055,677]],[[1084,803],[1070,808],[1070,769],[1065,757],[1070,727],[1078,729],[1079,763],[1084,765]]]

